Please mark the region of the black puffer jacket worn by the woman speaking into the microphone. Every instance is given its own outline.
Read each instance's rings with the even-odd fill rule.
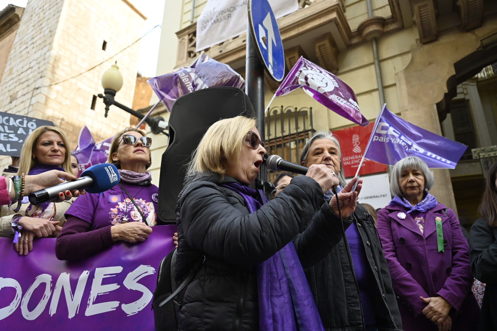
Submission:
[[[224,183],[229,182],[236,181],[225,177]],[[185,291],[179,329],[258,330],[255,266],[295,238],[299,258],[308,267],[340,240],[341,225],[312,178],[292,179],[276,199],[253,213],[239,194],[218,184],[220,177],[209,177],[178,197],[176,280],[203,261]],[[323,212],[325,217],[298,235],[303,219]]]

